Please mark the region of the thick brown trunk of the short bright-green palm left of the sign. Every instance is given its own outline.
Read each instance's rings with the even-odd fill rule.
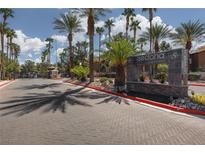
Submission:
[[[125,69],[119,64],[116,67],[115,87],[117,91],[123,91],[125,86]]]

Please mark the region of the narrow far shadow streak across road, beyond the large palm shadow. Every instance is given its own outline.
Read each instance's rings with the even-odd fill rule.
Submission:
[[[28,86],[18,87],[16,89],[22,90],[32,90],[32,89],[45,89],[45,88],[56,88],[60,86],[62,83],[51,83],[51,84],[32,84]]]

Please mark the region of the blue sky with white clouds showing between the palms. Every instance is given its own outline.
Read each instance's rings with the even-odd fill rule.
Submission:
[[[30,59],[35,62],[41,61],[41,52],[45,48],[45,39],[47,37],[54,38],[54,48],[52,50],[51,62],[56,62],[56,52],[62,52],[62,49],[67,46],[66,34],[58,33],[54,30],[53,21],[54,18],[59,18],[61,13],[68,12],[69,9],[13,9],[15,17],[8,20],[9,27],[13,28],[17,33],[17,39],[15,43],[21,46],[21,54],[19,62],[22,64],[25,60]],[[103,26],[104,21],[108,18],[114,20],[115,26],[112,28],[112,35],[115,35],[121,31],[125,31],[125,17],[122,16],[123,9],[111,9],[111,13],[107,13],[106,16],[101,17],[96,26]],[[135,9],[137,14],[136,19],[141,21],[141,30],[138,30],[137,36],[139,36],[149,26],[146,12],[142,12],[142,9]],[[158,9],[155,13],[154,23],[166,24],[170,28],[176,28],[180,26],[182,22],[189,20],[200,20],[205,23],[205,9]],[[1,19],[2,20],[2,19]],[[84,32],[74,34],[74,43],[77,41],[88,40],[86,35],[87,19],[81,18],[81,24],[84,28]],[[129,35],[132,36],[130,32]],[[95,36],[95,48],[98,48],[98,41]],[[107,37],[107,31],[103,35],[103,39]],[[169,40],[168,40],[169,41]],[[203,44],[203,43],[202,43]]]

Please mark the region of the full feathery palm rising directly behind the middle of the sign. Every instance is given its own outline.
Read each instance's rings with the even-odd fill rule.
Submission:
[[[169,36],[171,29],[167,25],[159,25],[155,24],[152,27],[152,33],[150,35],[150,28],[147,28],[147,31],[144,32],[141,37],[150,40],[150,36],[152,38],[154,44],[155,52],[159,52],[159,43],[162,39],[165,39]]]

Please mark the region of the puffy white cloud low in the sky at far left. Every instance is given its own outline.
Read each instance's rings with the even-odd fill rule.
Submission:
[[[29,37],[25,35],[21,30],[16,30],[17,38],[14,42],[20,45],[21,52],[34,51],[39,52],[43,47],[45,47],[45,42],[41,41],[38,37]]]

